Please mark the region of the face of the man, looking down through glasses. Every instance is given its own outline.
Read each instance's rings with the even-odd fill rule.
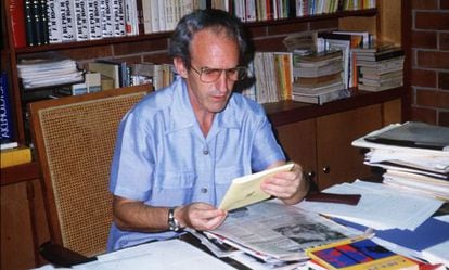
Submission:
[[[191,42],[191,68],[187,68],[185,80],[193,110],[200,114],[221,112],[232,93],[234,81],[227,78],[226,72],[214,82],[204,82],[200,74],[204,68],[229,69],[239,64],[238,43],[222,33],[204,29]],[[194,69],[193,69],[194,68]]]

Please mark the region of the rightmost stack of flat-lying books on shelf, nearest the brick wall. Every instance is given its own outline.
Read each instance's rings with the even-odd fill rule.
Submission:
[[[403,83],[403,50],[392,43],[355,48],[358,88],[382,91]]]

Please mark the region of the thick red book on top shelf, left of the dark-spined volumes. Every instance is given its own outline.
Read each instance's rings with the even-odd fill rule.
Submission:
[[[10,0],[12,38],[15,48],[26,47],[25,8],[23,0]]]

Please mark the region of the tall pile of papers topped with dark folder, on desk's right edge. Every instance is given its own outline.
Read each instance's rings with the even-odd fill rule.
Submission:
[[[369,147],[365,164],[385,170],[385,184],[449,200],[449,128],[394,124],[352,142]]]

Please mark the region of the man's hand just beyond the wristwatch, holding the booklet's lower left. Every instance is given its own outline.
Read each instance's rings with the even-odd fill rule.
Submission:
[[[200,231],[214,230],[226,219],[227,211],[206,203],[192,203],[175,209],[175,218],[181,227]]]

